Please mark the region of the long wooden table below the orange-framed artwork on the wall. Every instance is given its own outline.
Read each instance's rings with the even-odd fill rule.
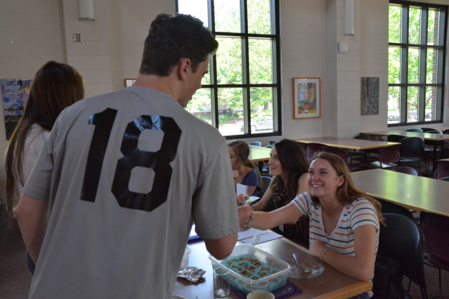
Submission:
[[[293,141],[306,144],[320,143],[328,147],[343,148],[343,149],[358,149],[358,150],[379,149],[398,144],[395,142],[349,139],[341,137],[315,137],[315,138],[294,139]],[[366,164],[368,159],[368,153],[366,151],[364,157],[365,157],[364,163]]]

